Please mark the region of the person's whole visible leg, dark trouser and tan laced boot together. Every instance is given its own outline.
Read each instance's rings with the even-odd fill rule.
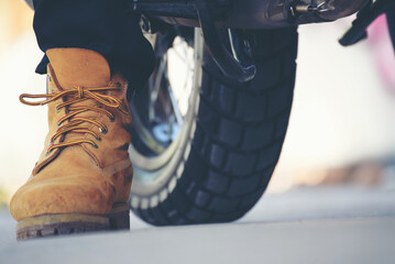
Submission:
[[[36,0],[34,29],[46,53],[50,132],[32,176],[12,197],[19,239],[129,227],[133,176],[127,77],[153,64],[138,19],[113,0]],[[29,101],[42,98],[42,101]]]

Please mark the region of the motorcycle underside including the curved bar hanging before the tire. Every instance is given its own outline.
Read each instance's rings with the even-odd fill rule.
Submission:
[[[254,78],[256,67],[252,62],[253,56],[245,52],[249,47],[248,40],[240,41],[242,38],[240,34],[232,32],[232,30],[240,28],[252,29],[259,28],[259,25],[264,25],[263,28],[289,26],[305,22],[334,20],[339,14],[351,14],[366,1],[369,0],[354,0],[350,4],[350,2],[344,2],[343,0],[244,0],[241,4],[238,0],[133,0],[132,9],[142,12],[146,16],[165,19],[165,22],[171,24],[178,24],[177,18],[180,18],[179,23],[186,22],[183,25],[200,26],[205,35],[207,50],[222,74],[235,81],[245,82]],[[183,11],[183,9],[185,10]],[[256,10],[259,10],[259,15],[256,13],[253,15]],[[196,21],[195,13],[197,13],[198,25],[193,22]],[[224,19],[227,13],[229,15]],[[232,15],[232,13],[238,15]],[[166,15],[175,18],[169,20],[166,19]],[[232,53],[229,52],[224,38],[219,34],[217,29],[219,25],[231,29],[229,42]],[[238,42],[238,45],[235,42]],[[244,45],[240,45],[240,43],[244,43]]]

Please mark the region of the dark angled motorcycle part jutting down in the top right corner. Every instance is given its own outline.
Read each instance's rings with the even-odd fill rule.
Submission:
[[[356,15],[356,19],[352,22],[351,29],[340,38],[339,43],[343,46],[350,46],[359,41],[366,38],[367,26],[380,15],[386,13],[388,18],[388,28],[391,35],[394,35],[394,25],[391,22],[395,14],[395,1],[394,0],[376,0],[365,6]],[[393,37],[394,38],[394,37]],[[393,41],[394,44],[394,41]],[[395,44],[394,44],[395,45]]]

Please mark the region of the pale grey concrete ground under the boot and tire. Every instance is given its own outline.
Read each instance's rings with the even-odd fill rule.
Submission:
[[[299,188],[230,224],[15,242],[0,213],[1,263],[395,263],[394,189]]]

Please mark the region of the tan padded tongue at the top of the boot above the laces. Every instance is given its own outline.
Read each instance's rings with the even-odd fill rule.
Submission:
[[[83,48],[51,48],[46,55],[63,89],[102,87],[110,81],[109,64],[99,53]]]

